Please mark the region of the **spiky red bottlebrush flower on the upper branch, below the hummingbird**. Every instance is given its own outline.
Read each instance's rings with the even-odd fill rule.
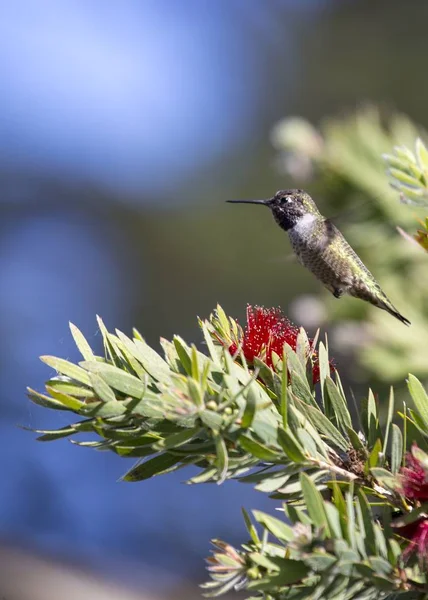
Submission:
[[[239,348],[248,362],[260,358],[269,367],[273,367],[272,354],[275,352],[282,357],[284,343],[296,349],[299,328],[285,317],[279,308],[264,308],[262,306],[247,306],[247,326],[240,346],[232,343],[229,352],[234,355]],[[312,340],[309,340],[312,342]],[[312,354],[313,382],[320,379],[320,370],[316,352]]]

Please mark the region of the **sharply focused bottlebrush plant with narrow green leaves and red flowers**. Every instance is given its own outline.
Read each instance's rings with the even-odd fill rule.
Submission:
[[[278,516],[244,511],[240,548],[214,540],[207,596],[428,598],[428,396],[407,379],[413,408],[385,423],[371,390],[357,418],[348,409],[327,344],[311,340],[278,309],[248,307],[243,329],[220,306],[199,321],[205,352],[180,337],[164,356],[133,331],[109,333],[104,355],[71,325],[83,360],[42,357],[56,374],[37,404],[78,415],[39,431],[136,457],[125,481],[187,465],[190,483],[236,479],[269,494]]]

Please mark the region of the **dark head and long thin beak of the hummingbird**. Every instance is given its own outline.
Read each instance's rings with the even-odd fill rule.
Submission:
[[[288,231],[306,215],[320,214],[315,202],[303,190],[279,190],[268,200],[228,200],[242,204],[263,204],[271,209],[278,225]]]

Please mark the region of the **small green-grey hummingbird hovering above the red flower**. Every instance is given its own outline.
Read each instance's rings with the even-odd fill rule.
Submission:
[[[376,279],[337,227],[322,216],[303,190],[280,190],[268,200],[227,200],[263,204],[287,231],[299,261],[319,279],[335,298],[350,294],[386,310],[405,325],[403,317],[381,290]]]

